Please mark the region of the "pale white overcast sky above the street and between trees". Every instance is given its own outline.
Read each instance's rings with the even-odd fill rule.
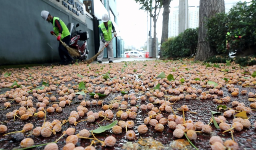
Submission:
[[[199,1],[200,0],[188,0],[188,6],[199,6]],[[239,1],[240,0],[225,0],[225,4],[229,4],[228,6],[231,7]],[[147,13],[144,10],[139,10],[140,5],[134,0],[116,0],[116,4],[119,13],[118,25],[120,32],[118,34],[124,39],[126,47],[128,45],[133,45],[138,49],[141,46],[144,46],[148,36],[147,26],[149,30],[150,17],[148,17],[147,24]],[[179,6],[179,0],[172,0],[170,6]],[[156,37],[158,38],[158,41],[161,40],[162,35],[162,12],[163,8],[161,9],[156,23]],[[152,38],[154,33],[153,24],[152,20]]]

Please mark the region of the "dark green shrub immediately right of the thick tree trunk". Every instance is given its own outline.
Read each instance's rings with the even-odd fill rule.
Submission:
[[[214,53],[228,54],[226,48],[226,33],[227,33],[227,14],[216,14],[207,20],[206,27],[208,28],[207,37],[211,48]]]

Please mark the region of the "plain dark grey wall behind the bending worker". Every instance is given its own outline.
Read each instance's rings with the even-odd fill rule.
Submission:
[[[87,31],[85,23],[48,0],[1,0],[0,3],[0,65],[60,61],[59,43],[50,34],[52,24],[40,16],[42,10],[58,16],[65,24],[79,23],[79,30]]]

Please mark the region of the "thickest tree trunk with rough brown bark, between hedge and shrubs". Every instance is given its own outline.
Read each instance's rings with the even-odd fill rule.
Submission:
[[[196,59],[206,61],[209,57],[215,55],[212,47],[207,41],[207,27],[205,22],[217,13],[225,12],[224,0],[200,0],[199,6],[199,33]]]

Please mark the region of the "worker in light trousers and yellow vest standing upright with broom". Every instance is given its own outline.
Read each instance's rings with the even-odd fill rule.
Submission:
[[[116,30],[115,27],[113,26],[112,22],[109,20],[109,17],[107,14],[102,15],[102,22],[99,25],[99,31],[100,31],[100,49],[102,49],[104,46],[107,47],[108,50],[108,61],[109,63],[113,63],[114,60],[114,55],[113,55],[113,43],[110,41],[112,39],[112,30],[114,32],[114,36],[116,36]],[[110,43],[108,44],[108,42]],[[97,60],[98,63],[102,63],[102,58],[104,55],[104,51],[98,55]]]

